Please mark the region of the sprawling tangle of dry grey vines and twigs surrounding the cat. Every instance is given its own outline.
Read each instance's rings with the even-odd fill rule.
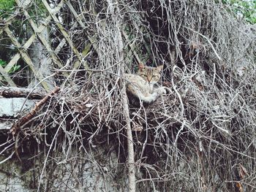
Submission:
[[[21,128],[18,148],[34,138],[51,150],[47,164],[68,161],[72,150],[100,161],[88,150],[97,147],[108,164],[115,151],[109,172],[125,186],[122,74],[139,62],[164,64],[170,91],[148,106],[129,104],[138,191],[255,191],[255,26],[216,1],[90,2],[70,1],[78,15],[69,4],[60,10],[83,62],[69,46],[59,52],[61,91]],[[59,35],[52,31],[53,46]]]

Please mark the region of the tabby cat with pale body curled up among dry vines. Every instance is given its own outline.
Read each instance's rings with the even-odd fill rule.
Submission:
[[[154,88],[161,78],[162,68],[162,65],[152,67],[139,64],[137,74],[124,74],[129,100],[135,98],[143,104],[151,104],[156,101],[159,94],[165,94],[165,87]]]

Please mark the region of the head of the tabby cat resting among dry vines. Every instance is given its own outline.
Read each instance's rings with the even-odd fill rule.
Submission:
[[[162,65],[153,67],[139,64],[138,75],[140,75],[143,80],[146,80],[146,82],[149,82],[150,84],[155,84],[161,79],[162,67]]]

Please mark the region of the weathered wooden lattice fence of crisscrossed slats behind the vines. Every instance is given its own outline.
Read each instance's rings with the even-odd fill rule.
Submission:
[[[86,30],[84,31],[86,34],[86,39],[88,40],[86,41],[84,47],[82,49],[78,49],[78,47],[76,47],[76,45],[74,44],[72,39],[73,34],[69,33],[69,29],[86,28],[86,22],[88,21],[83,17],[83,13],[77,12],[75,10],[71,1],[62,0],[59,2],[59,4],[49,4],[46,0],[40,1],[45,11],[45,15],[40,15],[40,19],[37,19],[37,15],[34,15],[34,13],[31,12],[31,4],[33,4],[34,1],[15,0],[15,2],[17,4],[15,12],[9,18],[5,18],[4,20],[2,20],[0,26],[0,35],[5,34],[7,38],[10,38],[12,45],[9,46],[14,46],[17,50],[17,53],[13,54],[7,65],[0,65],[1,85],[4,84],[13,87],[20,86],[14,80],[14,75],[11,73],[11,71],[13,66],[18,64],[20,59],[22,59],[26,66],[28,66],[26,70],[29,69],[31,76],[36,77],[39,84],[41,84],[46,91],[50,90],[49,82],[45,81],[46,79],[48,79],[48,77],[45,77],[44,74],[40,74],[37,67],[39,64],[34,64],[33,59],[31,59],[31,55],[29,54],[29,49],[31,49],[31,45],[38,41],[42,44],[45,49],[45,53],[47,53],[48,55],[48,61],[46,63],[50,63],[50,65],[48,66],[48,68],[50,69],[65,69],[65,66],[67,65],[69,65],[69,69],[78,69],[80,66],[82,66],[83,69],[89,69],[89,65],[86,61],[86,56],[90,54],[91,49],[93,49],[94,52],[98,55],[101,54],[98,50],[97,43],[95,43],[97,42],[97,37],[91,35]],[[61,20],[62,18],[59,16],[61,15],[63,9],[69,9],[69,12],[74,18],[74,22],[72,22],[70,26],[64,26]],[[97,14],[96,11],[95,14]],[[26,28],[31,28],[32,31],[32,34],[26,39],[26,41],[25,38],[23,38],[23,42],[20,42],[17,34],[15,34],[10,28],[10,26],[14,26],[15,28],[23,28],[22,25],[15,26],[17,25],[15,24],[15,21],[20,20],[20,18],[22,18],[22,22],[26,20],[26,22],[29,23],[29,26],[27,26]],[[59,31],[59,45],[53,46],[51,43],[53,42],[53,39],[45,39],[43,33],[45,30],[49,29],[52,31]],[[129,49],[127,55],[131,55],[131,57],[133,57],[135,61],[141,62],[138,53],[136,53],[135,45],[132,45],[129,42],[127,32],[122,31],[122,35],[124,41],[127,41]],[[146,45],[145,42],[143,43],[144,45]],[[69,51],[72,52],[71,54],[69,54],[72,55],[72,64],[69,64],[70,61],[64,61],[62,58],[59,57],[59,53],[61,53],[61,50],[63,50],[64,47],[69,47]],[[146,47],[146,51],[148,53],[147,57],[149,57],[151,53],[148,47]],[[52,77],[56,75],[54,70],[52,70],[51,72]],[[62,77],[68,77],[70,72],[71,70],[63,70]]]

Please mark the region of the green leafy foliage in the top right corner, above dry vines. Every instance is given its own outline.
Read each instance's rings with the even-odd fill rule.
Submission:
[[[237,15],[245,18],[249,23],[256,23],[256,1],[255,0],[222,0],[223,4],[229,4],[231,10]]]

